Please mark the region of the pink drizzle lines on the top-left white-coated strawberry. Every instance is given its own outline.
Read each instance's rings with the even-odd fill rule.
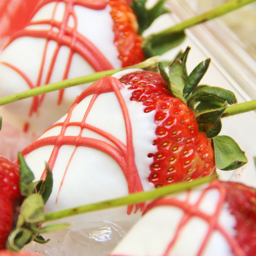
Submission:
[[[90,8],[94,10],[102,10],[106,7],[107,3],[105,0],[42,0],[36,6],[34,10],[34,14],[38,12],[43,6],[48,3],[56,2],[52,17],[50,20],[41,20],[41,21],[30,21],[27,26],[36,25],[36,24],[48,24],[51,26],[49,30],[30,30],[29,28],[24,28],[15,32],[8,44],[5,45],[5,48],[8,47],[15,39],[28,36],[32,38],[45,38],[45,46],[42,54],[41,66],[38,70],[38,78],[35,84],[29,79],[29,76],[22,71],[21,69],[11,65],[10,63],[1,62],[3,65],[8,66],[17,72],[27,83],[30,89],[48,84],[51,80],[51,75],[53,73],[54,66],[56,65],[56,59],[59,54],[60,48],[65,45],[70,49],[69,57],[66,63],[66,68],[63,71],[62,79],[65,80],[68,78],[69,69],[72,62],[72,57],[74,53],[80,54],[91,66],[92,68],[98,71],[104,71],[108,69],[113,69],[111,63],[106,59],[106,57],[101,53],[101,51],[95,47],[84,35],[81,35],[77,31],[77,15],[74,11],[74,6],[79,5],[85,8]],[[65,3],[66,9],[65,14],[63,15],[62,21],[54,20],[54,15],[56,14],[57,6],[59,3]],[[68,21],[70,18],[74,20],[74,26],[68,26]],[[56,28],[58,31],[56,31]],[[50,66],[48,67],[47,77],[45,81],[42,81],[42,73],[45,69],[45,58],[47,53],[48,43],[50,41],[57,42],[57,46],[54,50],[54,54],[51,57]],[[36,42],[35,42],[36,43]],[[29,56],[28,56],[29,57]],[[59,91],[59,98],[57,99],[57,104],[61,104],[63,98],[64,89]],[[36,112],[40,107],[42,101],[44,99],[44,95],[34,96],[33,103],[30,107],[29,116],[32,115],[33,112]]]

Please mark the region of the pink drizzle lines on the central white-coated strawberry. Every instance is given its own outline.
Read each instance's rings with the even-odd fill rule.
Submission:
[[[42,139],[35,140],[31,145],[27,146],[23,150],[23,155],[29,154],[35,149],[38,149],[42,146],[46,145],[54,145],[53,151],[51,152],[50,159],[48,161],[50,168],[54,172],[54,164],[56,162],[56,159],[58,157],[58,153],[60,151],[61,146],[63,145],[74,145],[75,149],[74,152],[71,155],[71,158],[69,159],[69,163],[72,161],[72,157],[75,154],[75,151],[79,146],[84,147],[90,147],[94,149],[98,149],[108,155],[110,155],[120,166],[122,169],[127,184],[128,184],[128,191],[129,193],[135,193],[139,191],[143,191],[142,183],[140,180],[140,176],[136,167],[136,163],[134,160],[134,146],[133,146],[133,134],[132,134],[132,127],[131,127],[131,120],[129,117],[128,109],[125,105],[125,101],[122,97],[122,94],[120,93],[120,89],[123,88],[122,83],[117,78],[114,77],[102,77],[99,81],[96,81],[92,85],[90,85],[86,90],[83,91],[83,93],[78,96],[74,102],[74,104],[71,106],[71,108],[68,111],[68,114],[66,116],[66,119],[63,122],[55,123],[53,126],[47,129],[50,130],[53,127],[61,126],[62,129],[60,131],[60,134],[57,136],[50,136],[45,137]],[[107,93],[107,92],[114,92],[120,107],[122,109],[123,118],[125,122],[125,129],[126,129],[126,145],[124,145],[120,140],[118,140],[113,135],[95,127],[92,125],[89,125],[86,123],[86,118],[93,107],[94,102],[97,100],[98,96],[101,93]],[[72,111],[77,106],[79,102],[81,102],[84,98],[86,98],[89,95],[93,95],[92,99],[90,101],[90,104],[84,114],[83,120],[81,122],[70,122],[70,118],[72,116]],[[65,136],[65,131],[69,126],[76,126],[80,127],[80,134],[78,136]],[[93,139],[89,137],[82,137],[83,129],[88,129],[90,131],[93,131],[102,137],[108,139],[110,142],[114,143],[114,145],[117,147],[114,147],[110,145],[107,142]],[[65,182],[65,175],[69,168],[69,163],[66,166],[65,173],[62,178],[62,182],[59,187],[59,193],[61,191],[63,182]],[[42,178],[45,178],[45,171],[42,173]],[[58,196],[59,196],[58,193]],[[56,202],[58,199],[58,196],[56,198]],[[136,205],[136,209],[134,212],[137,212],[139,209],[141,211],[145,208],[145,203],[140,203]],[[131,214],[133,210],[133,206],[128,206],[127,214]]]

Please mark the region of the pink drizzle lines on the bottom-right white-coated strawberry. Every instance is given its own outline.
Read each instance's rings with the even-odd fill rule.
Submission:
[[[214,214],[208,215],[205,212],[202,212],[199,209],[199,206],[200,206],[200,203],[202,202],[202,200],[204,199],[204,196],[206,195],[206,193],[212,189],[217,189],[219,191],[220,199],[218,201],[217,208],[216,208]],[[222,227],[218,223],[221,209],[223,208],[224,203],[226,203],[226,196],[227,196],[226,193],[227,193],[227,190],[221,185],[221,183],[219,181],[216,180],[216,181],[211,182],[209,187],[205,188],[202,191],[202,194],[200,195],[199,200],[194,204],[189,203],[191,191],[188,191],[187,199],[185,200],[185,202],[175,199],[174,197],[163,197],[163,198],[153,201],[152,203],[149,203],[146,206],[146,209],[143,212],[143,215],[146,212],[148,212],[150,209],[152,209],[154,207],[158,207],[158,206],[175,206],[175,207],[182,209],[182,211],[184,212],[184,215],[181,218],[181,221],[178,225],[178,229],[176,230],[174,238],[170,240],[170,243],[167,246],[166,251],[161,256],[172,255],[172,248],[175,246],[176,241],[178,241],[179,235],[182,232],[182,228],[185,227],[185,225],[193,217],[199,217],[209,224],[208,232],[207,232],[204,240],[202,241],[202,245],[199,248],[196,256],[204,255],[203,251],[204,251],[207,243],[209,242],[211,235],[213,234],[213,232],[215,230],[217,230],[218,232],[220,232],[223,235],[223,237],[229,243],[230,248],[235,256],[246,256],[246,253],[244,252],[244,250],[242,250],[242,248],[239,246],[238,241],[233,236],[231,236],[229,233],[227,233],[227,231],[224,229],[224,227]],[[194,232],[196,235],[196,230]],[[186,243],[186,241],[184,241],[184,244],[185,243]],[[184,245],[184,246],[186,246],[186,245]],[[116,255],[116,254],[112,255],[111,254],[111,256],[121,256],[121,255]],[[125,256],[128,256],[128,255],[125,254]]]

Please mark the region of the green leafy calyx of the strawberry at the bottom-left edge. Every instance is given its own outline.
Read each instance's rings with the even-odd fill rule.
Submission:
[[[27,166],[23,155],[18,154],[20,164],[20,193],[24,200],[20,206],[16,227],[10,233],[7,248],[20,251],[30,241],[44,244],[45,240],[41,233],[51,232],[67,227],[67,224],[54,224],[41,227],[45,220],[44,205],[50,197],[53,187],[53,176],[46,164],[46,178],[33,182],[34,175]]]

